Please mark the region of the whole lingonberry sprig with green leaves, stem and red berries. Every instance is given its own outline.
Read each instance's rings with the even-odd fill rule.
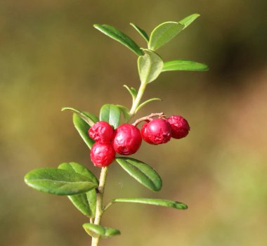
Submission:
[[[100,109],[99,118],[90,112],[63,108],[73,112],[74,127],[79,132],[86,145],[91,149],[91,161],[94,166],[101,168],[99,181],[86,167],[76,162],[65,162],[58,168],[34,169],[25,176],[28,186],[46,193],[67,195],[70,201],[82,214],[89,217],[90,223],[83,225],[86,233],[92,237],[92,246],[97,246],[101,238],[110,238],[120,234],[117,229],[100,226],[100,219],[107,209],[116,202],[136,202],[147,205],[187,209],[182,202],[152,198],[115,198],[108,205],[103,204],[105,183],[108,166],[116,161],[133,179],[152,191],[162,188],[162,179],[159,174],[145,162],[131,157],[141,147],[142,140],[152,145],[167,143],[171,138],[183,138],[190,130],[189,124],[180,115],[167,118],[162,112],[155,112],[137,119],[130,124],[131,118],[144,105],[151,101],[160,100],[151,98],[141,103],[146,86],[160,75],[161,72],[173,70],[204,71],[207,65],[190,60],[171,60],[164,62],[155,51],[167,44],[178,33],[182,32],[199,15],[190,15],[179,22],[164,22],[150,34],[131,23],[131,26],[141,34],[148,43],[148,48],[140,48],[126,34],[110,25],[94,25],[97,30],[119,41],[138,56],[138,73],[141,84],[138,90],[124,85],[132,97],[131,109],[122,105],[105,104]],[[122,119],[121,119],[122,118]],[[123,124],[120,124],[120,122]],[[142,124],[141,131],[138,124]],[[119,154],[119,155],[118,155]]]

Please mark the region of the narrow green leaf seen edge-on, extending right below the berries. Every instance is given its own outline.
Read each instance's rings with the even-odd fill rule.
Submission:
[[[151,199],[151,198],[116,198],[112,202],[133,202],[146,205],[157,205],[163,207],[172,207],[174,209],[188,209],[188,205],[182,202],[163,200],[163,199]]]

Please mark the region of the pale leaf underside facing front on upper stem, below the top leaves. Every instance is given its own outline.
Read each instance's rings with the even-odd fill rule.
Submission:
[[[163,60],[157,53],[148,49],[145,51],[144,56],[138,58],[138,72],[142,83],[150,83],[157,79],[162,72]]]

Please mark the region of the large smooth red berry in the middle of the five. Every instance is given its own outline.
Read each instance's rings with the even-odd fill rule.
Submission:
[[[136,153],[142,143],[142,137],[137,127],[132,124],[122,124],[115,129],[112,146],[120,155],[132,155]]]

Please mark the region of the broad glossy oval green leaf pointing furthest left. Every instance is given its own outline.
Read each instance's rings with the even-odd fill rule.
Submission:
[[[84,175],[56,168],[34,169],[24,180],[35,190],[55,195],[75,195],[97,187]]]

